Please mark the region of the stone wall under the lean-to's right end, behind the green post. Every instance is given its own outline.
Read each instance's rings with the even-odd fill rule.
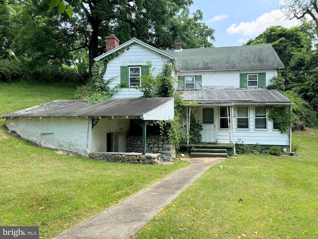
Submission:
[[[143,137],[127,136],[126,152],[142,152]],[[147,136],[146,153],[160,153],[162,161],[171,161],[175,159],[175,147],[162,136]]]

